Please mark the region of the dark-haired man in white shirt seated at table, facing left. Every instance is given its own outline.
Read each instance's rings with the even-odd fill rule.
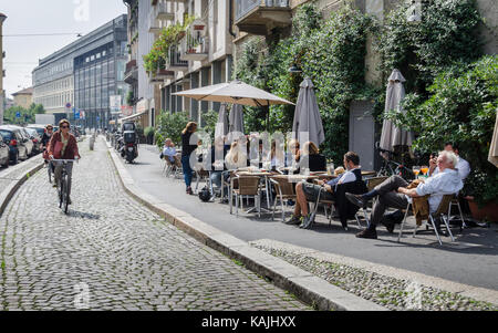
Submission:
[[[319,181],[319,185],[309,184],[307,181],[301,181],[295,186],[297,192],[297,204],[294,207],[294,214],[292,218],[286,221],[287,225],[299,225],[301,223],[301,216],[304,217],[300,228],[310,228],[312,217],[309,214],[308,200],[317,201],[320,190],[322,191],[320,197],[324,200],[335,200],[335,189],[339,185],[362,180],[362,170],[360,166],[360,157],[356,153],[349,152],[344,155],[344,167],[347,169],[346,173],[342,174],[341,177],[330,180],[329,183]]]

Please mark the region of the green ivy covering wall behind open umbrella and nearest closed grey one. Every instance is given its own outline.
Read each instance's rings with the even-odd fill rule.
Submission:
[[[245,44],[235,75],[292,102],[297,102],[302,80],[310,77],[325,131],[322,149],[330,158],[342,160],[347,150],[351,101],[375,96],[364,82],[366,34],[374,27],[371,18],[349,6],[323,20],[314,4],[303,4],[293,17],[290,37],[269,44],[252,39]],[[289,73],[293,64],[302,73]],[[290,132],[293,112],[293,106],[271,106],[268,129]],[[266,115],[248,108],[245,123],[247,132],[263,131]]]

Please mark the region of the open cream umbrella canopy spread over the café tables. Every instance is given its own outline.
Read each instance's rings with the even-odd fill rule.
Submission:
[[[218,83],[188,91],[174,93],[173,95],[194,98],[197,101],[210,101],[232,103],[249,106],[268,106],[274,104],[292,104],[263,90],[246,84],[241,81]],[[293,104],[292,104],[293,105]]]

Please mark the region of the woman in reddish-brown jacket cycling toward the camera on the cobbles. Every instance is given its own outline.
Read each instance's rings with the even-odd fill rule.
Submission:
[[[80,153],[77,150],[77,143],[74,135],[70,133],[70,122],[62,119],[59,122],[59,131],[52,135],[49,143],[49,158],[50,159],[80,159]],[[54,187],[56,187],[59,179],[61,178],[62,168],[64,164],[62,162],[52,162],[55,166],[54,176]],[[68,173],[68,197],[71,198],[71,176],[73,173],[73,163],[69,162],[66,164]],[[71,204],[71,199],[69,199]]]

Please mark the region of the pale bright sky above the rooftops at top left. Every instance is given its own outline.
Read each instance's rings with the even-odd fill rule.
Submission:
[[[3,22],[3,89],[12,97],[32,85],[31,72],[43,59],[126,13],[123,0],[0,0]],[[69,34],[62,34],[69,33]],[[43,34],[11,37],[19,34]],[[58,35],[51,35],[58,34]]]

